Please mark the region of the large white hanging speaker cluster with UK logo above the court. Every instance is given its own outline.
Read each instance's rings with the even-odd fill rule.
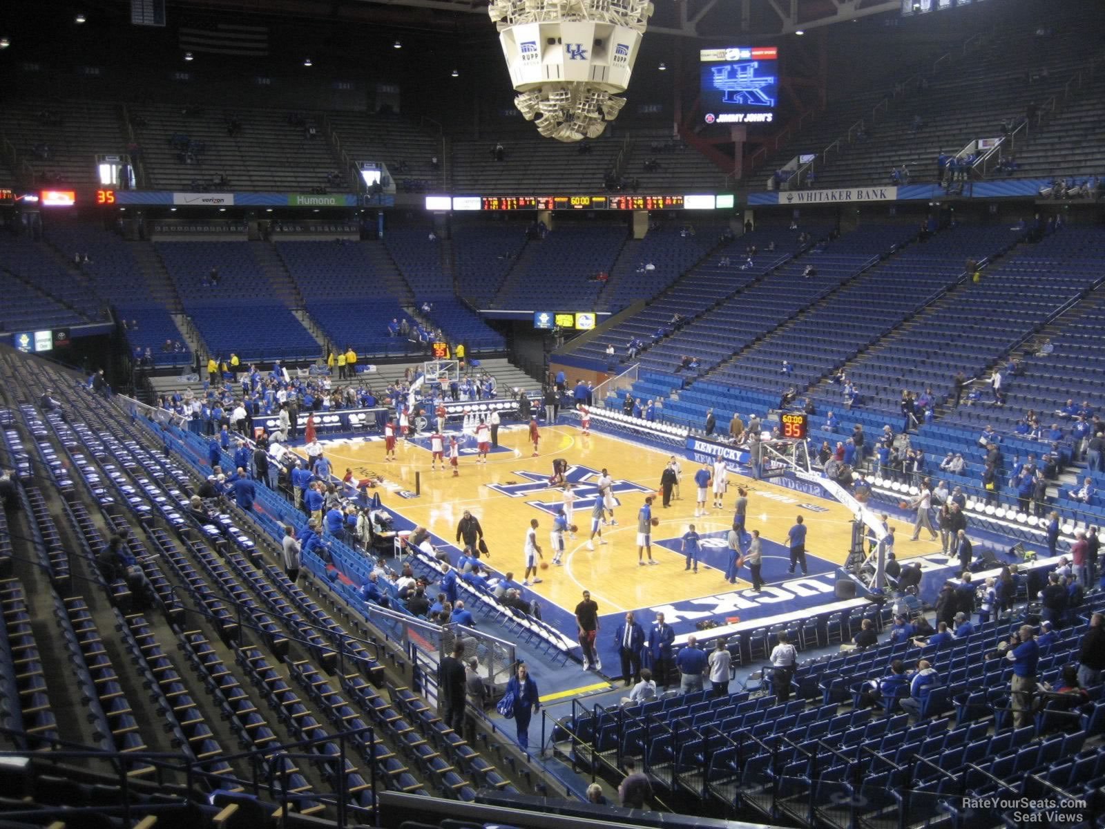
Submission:
[[[648,0],[492,0],[522,117],[561,141],[601,135],[625,105],[618,93],[652,11]]]

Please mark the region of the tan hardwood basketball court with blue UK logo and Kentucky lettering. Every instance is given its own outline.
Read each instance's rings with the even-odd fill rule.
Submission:
[[[657,564],[640,566],[636,512],[645,496],[656,492],[671,453],[607,434],[585,436],[575,426],[559,424],[541,428],[539,457],[533,458],[527,428],[514,426],[499,430],[498,448],[492,450],[486,463],[477,463],[474,438],[455,430],[452,433],[461,441],[457,478],[440,464],[438,470],[431,470],[424,437],[399,440],[396,461],[383,460],[381,438],[323,443],[336,474],[340,476],[351,469],[357,478],[382,476],[390,491],[381,493],[385,504],[446,544],[455,543],[456,524],[470,510],[484,528],[491,552],[485,563],[497,573],[514,573],[519,583],[525,570],[523,543],[532,518],[540,522],[538,543],[545,560],[551,562],[549,529],[552,514],[562,503],[562,490],[550,486],[549,478],[554,459],[566,460],[567,480],[577,493],[572,523],[578,525],[578,532],[575,539],[566,539],[564,566],[543,569],[541,584],[529,589],[551,606],[545,611],[545,621],[569,637],[575,633],[573,610],[585,589],[599,604],[601,626],[609,636],[628,610],[635,611],[645,627],[655,612],[663,611],[677,631],[687,632],[704,618],[754,619],[812,608],[834,598],[834,571],[845,563],[852,539],[852,513],[835,501],[730,471],[725,507],[711,508],[707,516],[696,518],[693,475],[698,465],[681,451],[682,497],[673,499],[666,510],[660,497],[653,502],[653,515],[660,520],[652,531],[652,556]],[[598,497],[594,480],[603,468],[614,479],[612,489],[620,503],[614,516],[618,524],[603,526],[606,544],[596,538],[591,550],[587,541],[591,508]],[[762,539],[765,587],[760,592],[753,591],[750,581],[744,578],[729,585],[723,575],[726,534],[738,485],[748,490],[746,529],[758,529]],[[711,503],[708,500],[707,506]],[[809,527],[806,577],[788,573],[787,533],[798,515]],[[927,532],[920,541],[911,542],[911,524],[893,517],[891,523],[896,526],[899,558],[940,552],[939,543],[928,541]],[[702,537],[697,574],[686,569],[681,553],[682,536],[691,524]],[[739,575],[747,577],[747,568]]]

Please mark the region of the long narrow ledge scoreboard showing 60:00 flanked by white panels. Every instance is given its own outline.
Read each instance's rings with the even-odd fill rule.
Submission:
[[[733,193],[685,193],[650,196],[427,196],[425,209],[443,211],[503,210],[727,210]]]

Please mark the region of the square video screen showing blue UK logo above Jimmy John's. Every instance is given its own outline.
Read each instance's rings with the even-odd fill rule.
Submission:
[[[779,102],[776,46],[703,49],[698,53],[707,124],[770,124]]]

